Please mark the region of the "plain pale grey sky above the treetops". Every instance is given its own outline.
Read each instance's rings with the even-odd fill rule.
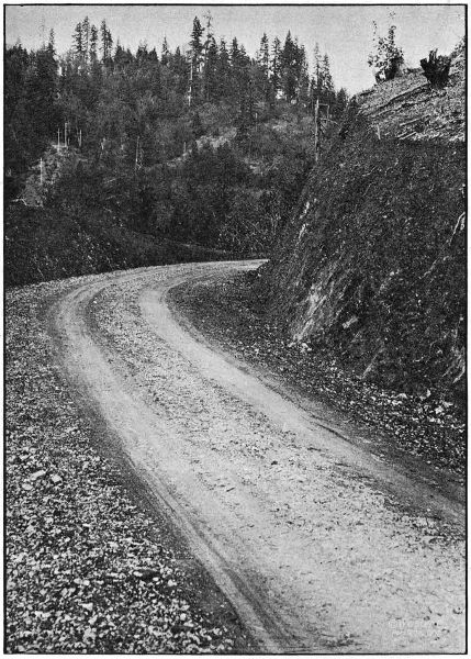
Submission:
[[[47,40],[53,27],[56,49],[65,53],[71,46],[71,34],[86,15],[97,26],[102,19],[112,32],[114,42],[135,52],[141,41],[156,46],[160,53],[164,36],[170,48],[188,43],[193,18],[204,22],[211,11],[216,38],[237,36],[250,55],[259,47],[260,37],[267,33],[270,44],[274,36],[282,42],[288,30],[304,44],[310,60],[316,42],[330,57],[330,69],[337,88],[346,87],[350,93],[372,86],[373,77],[367,58],[371,51],[372,21],[380,33],[389,25],[390,11],[395,12],[396,42],[403,47],[406,64],[418,66],[433,48],[449,53],[464,34],[466,8],[463,4],[428,5],[322,5],[322,4],[72,4],[72,5],[5,5],[5,38],[12,45],[20,40],[26,48],[41,45],[42,33]]]

